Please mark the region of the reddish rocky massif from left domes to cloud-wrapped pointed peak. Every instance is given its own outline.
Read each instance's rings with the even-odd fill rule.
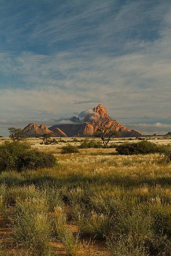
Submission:
[[[80,118],[79,118],[80,117]],[[58,124],[46,127],[45,124],[38,126],[30,123],[24,128],[24,132],[29,137],[50,134],[52,137],[72,137],[72,136],[93,136],[98,127],[110,127],[119,131],[122,137],[139,137],[144,134],[136,130],[127,129],[125,126],[113,120],[102,104],[93,110],[83,111],[79,117],[60,120]]]

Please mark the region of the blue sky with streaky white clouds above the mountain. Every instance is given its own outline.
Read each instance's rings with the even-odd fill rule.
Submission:
[[[0,0],[0,135],[99,103],[171,132],[171,1]]]

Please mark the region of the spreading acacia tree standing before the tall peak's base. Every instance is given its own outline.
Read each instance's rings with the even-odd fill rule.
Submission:
[[[107,147],[112,137],[120,137],[120,132],[113,130],[112,127],[102,126],[98,127],[95,136],[102,140],[104,147]]]

